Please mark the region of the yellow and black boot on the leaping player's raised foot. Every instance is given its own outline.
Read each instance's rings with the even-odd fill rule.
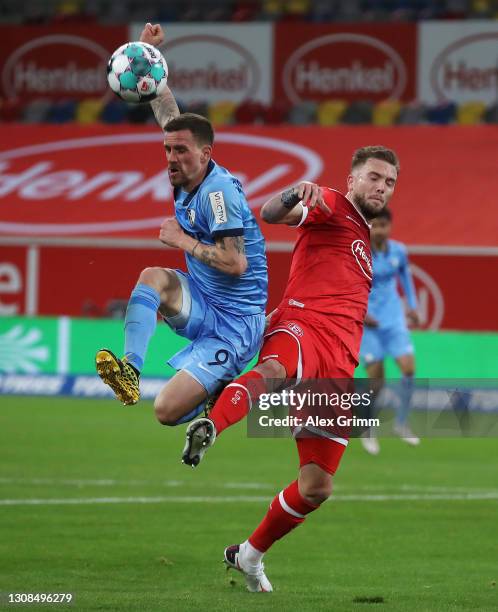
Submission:
[[[139,373],[126,359],[118,359],[109,349],[101,349],[95,356],[98,375],[109,385],[117,399],[125,406],[140,399]]]

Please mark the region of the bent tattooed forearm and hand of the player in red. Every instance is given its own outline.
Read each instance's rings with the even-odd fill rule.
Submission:
[[[319,206],[330,213],[319,185],[302,181],[295,187],[273,196],[261,208],[261,218],[266,223],[298,225],[303,216],[303,204],[309,209]]]

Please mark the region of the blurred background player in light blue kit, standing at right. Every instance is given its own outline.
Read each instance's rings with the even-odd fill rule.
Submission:
[[[390,240],[391,227],[391,211],[387,208],[371,221],[373,284],[360,355],[368,377],[377,381],[377,393],[384,380],[384,359],[392,357],[396,361],[402,378],[394,432],[407,443],[416,446],[420,440],[408,425],[415,358],[407,321],[410,326],[417,326],[419,323],[417,298],[408,267],[406,247],[396,240]],[[398,293],[398,280],[408,303],[406,313]],[[367,432],[361,441],[367,452],[374,455],[379,453],[379,443],[374,432]]]

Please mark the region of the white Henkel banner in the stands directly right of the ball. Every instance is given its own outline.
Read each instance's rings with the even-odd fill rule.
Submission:
[[[133,26],[132,33],[138,36],[142,27]],[[168,84],[183,102],[270,101],[269,24],[168,24],[163,51]]]

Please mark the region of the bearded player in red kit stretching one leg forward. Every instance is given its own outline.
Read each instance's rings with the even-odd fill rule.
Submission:
[[[389,203],[398,172],[393,151],[364,147],[353,155],[346,195],[302,182],[263,206],[267,223],[297,228],[285,295],[271,315],[258,364],[225,387],[209,418],[188,427],[185,463],[197,465],[216,437],[246,416],[253,399],[281,389],[287,379],[353,377],[372,282],[368,220]],[[347,436],[312,430],[295,432],[297,480],[273,499],[245,542],[225,549],[226,564],[243,572],[250,591],[272,590],[263,555],[331,494]]]

